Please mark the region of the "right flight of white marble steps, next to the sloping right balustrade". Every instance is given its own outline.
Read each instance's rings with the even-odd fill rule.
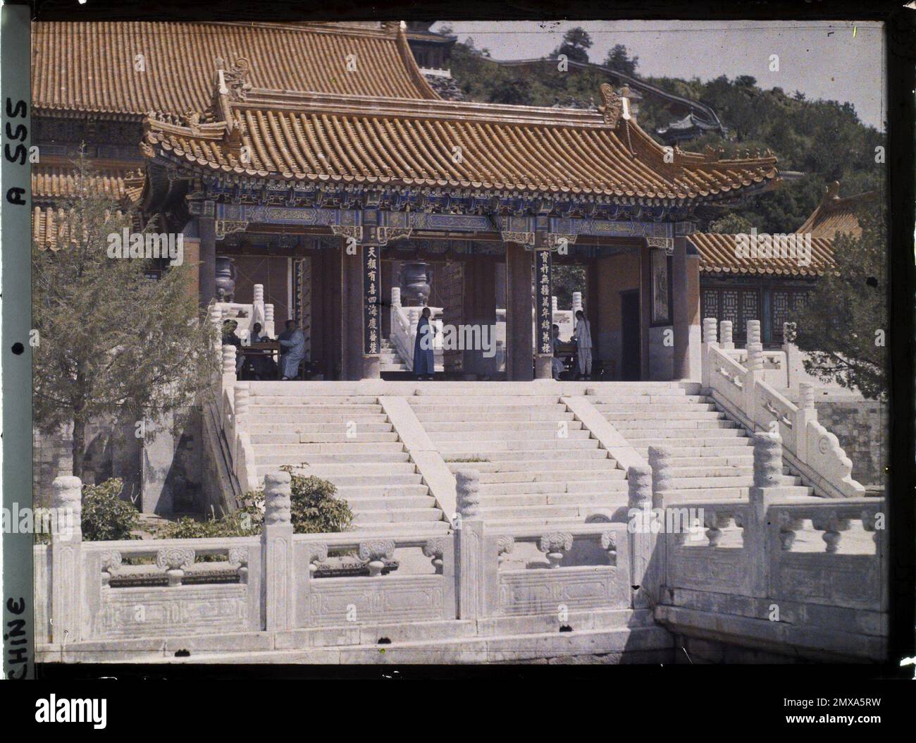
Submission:
[[[588,399],[644,458],[649,446],[671,448],[678,497],[747,498],[753,445],[747,432],[716,410],[699,383],[615,383],[590,388]],[[811,496],[800,477],[783,469],[787,496]]]

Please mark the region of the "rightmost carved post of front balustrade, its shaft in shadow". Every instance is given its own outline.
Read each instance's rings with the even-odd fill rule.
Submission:
[[[779,433],[754,434],[754,485],[750,487],[747,517],[742,519],[744,555],[750,595],[765,596],[769,587],[769,524],[767,509],[777,496],[782,475]],[[781,546],[780,546],[781,550]]]

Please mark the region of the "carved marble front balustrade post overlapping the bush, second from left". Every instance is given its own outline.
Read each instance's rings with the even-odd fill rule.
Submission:
[[[264,477],[261,606],[264,607],[264,628],[267,630],[291,629],[296,624],[298,581],[293,562],[290,480],[289,472],[274,472]],[[303,581],[305,579],[303,576]]]

